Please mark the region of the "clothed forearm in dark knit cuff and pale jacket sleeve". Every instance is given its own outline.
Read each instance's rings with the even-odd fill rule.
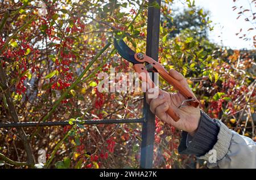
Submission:
[[[193,137],[183,132],[179,152],[208,161],[209,168],[256,168],[253,140],[229,130],[221,121],[209,118],[204,112],[201,112],[199,127]],[[216,156],[216,162],[213,156]]]

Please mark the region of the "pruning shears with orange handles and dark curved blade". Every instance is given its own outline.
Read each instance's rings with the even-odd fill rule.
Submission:
[[[183,95],[186,100],[182,102],[180,105],[183,106],[185,102],[189,106],[194,106],[195,108],[199,106],[200,102],[197,100],[195,95],[191,92],[191,89],[189,87],[185,87],[182,85],[178,80],[176,80],[172,75],[170,75],[166,69],[160,65],[160,63],[156,62],[151,57],[148,57],[146,54],[143,53],[135,53],[133,50],[129,48],[125,44],[123,40],[117,40],[114,39],[114,46],[117,50],[118,54],[121,55],[122,58],[126,59],[127,61],[133,63],[134,70],[140,74],[144,73],[146,76],[139,76],[142,81],[147,82],[149,85],[149,88],[154,88],[155,84],[150,78],[150,74],[148,72],[158,72],[160,76],[163,77],[164,80],[166,80],[168,83],[170,83],[177,91]],[[179,107],[179,108],[180,108]],[[174,121],[179,121],[180,117],[174,112],[174,109],[171,107],[167,110],[167,114],[170,115]]]

